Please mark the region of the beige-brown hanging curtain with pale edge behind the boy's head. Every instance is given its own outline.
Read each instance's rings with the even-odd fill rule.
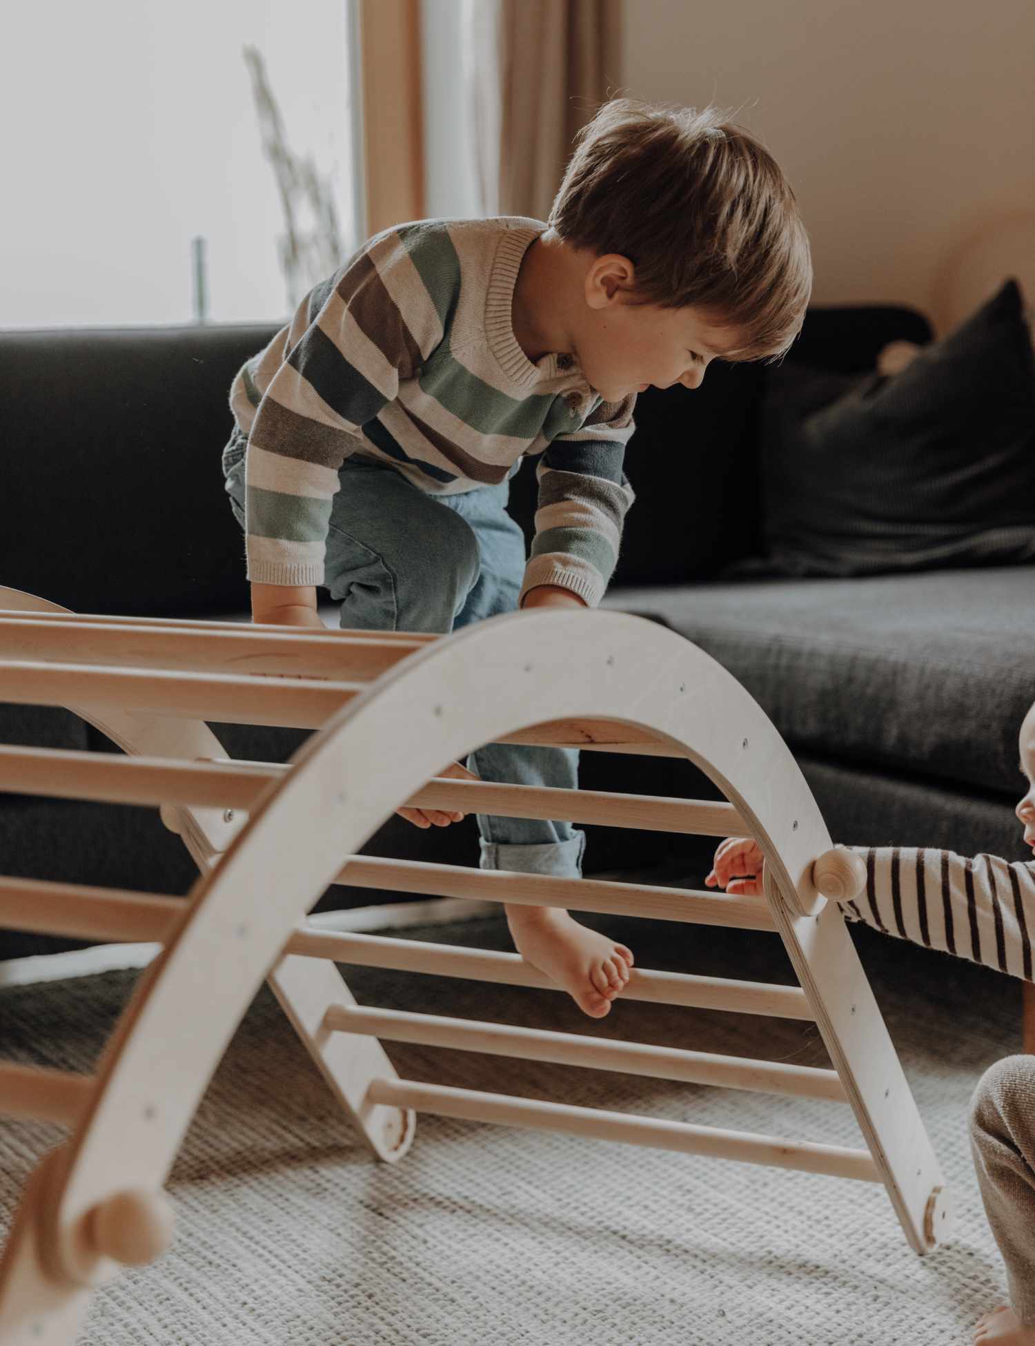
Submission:
[[[468,16],[480,209],[545,219],[576,132],[618,92],[622,0],[474,0]]]

